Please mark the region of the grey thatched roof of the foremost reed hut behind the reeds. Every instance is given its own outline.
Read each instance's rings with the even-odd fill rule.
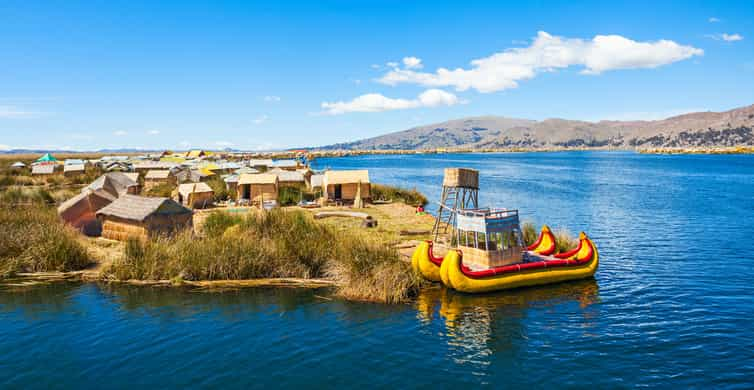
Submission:
[[[170,198],[150,198],[126,194],[100,209],[97,215],[143,222],[156,214],[180,215],[190,213],[192,213],[191,209],[181,206]]]

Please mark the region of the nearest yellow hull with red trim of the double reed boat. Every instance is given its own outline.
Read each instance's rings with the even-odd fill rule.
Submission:
[[[578,246],[568,252],[550,256],[525,253],[534,261],[475,270],[464,264],[462,249],[453,250],[441,263],[440,279],[457,291],[481,293],[589,278],[599,265],[597,247],[583,232]]]

